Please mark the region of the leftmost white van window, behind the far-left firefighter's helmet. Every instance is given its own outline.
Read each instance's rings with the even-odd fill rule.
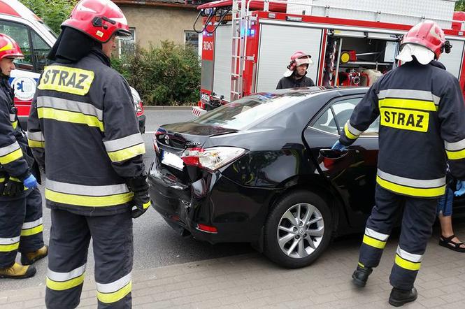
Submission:
[[[15,60],[17,69],[34,71],[34,64],[32,62],[31,55],[31,44],[29,43],[29,30],[22,24],[15,22],[7,22],[6,20],[0,20],[0,33],[6,34],[13,38],[18,45],[20,45],[21,51],[24,55],[24,59]]]

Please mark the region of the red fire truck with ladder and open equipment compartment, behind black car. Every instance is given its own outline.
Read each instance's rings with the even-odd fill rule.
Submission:
[[[222,0],[198,7],[201,115],[254,92],[276,89],[296,50],[312,56],[317,86],[369,86],[399,66],[403,34],[434,20],[452,44],[440,61],[465,85],[465,13],[451,0]],[[201,18],[200,18],[201,17]],[[202,25],[199,20],[202,20]]]

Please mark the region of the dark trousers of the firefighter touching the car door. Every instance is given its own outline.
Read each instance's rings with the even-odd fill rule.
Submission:
[[[375,207],[366,221],[359,264],[378,266],[387,238],[404,206],[401,236],[389,281],[398,289],[412,289],[431,237],[437,203],[438,199],[403,196],[377,185]]]

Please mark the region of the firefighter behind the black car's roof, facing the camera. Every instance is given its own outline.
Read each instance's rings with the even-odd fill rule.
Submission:
[[[306,52],[297,51],[291,56],[291,61],[287,66],[287,70],[283,74],[276,86],[276,89],[299,88],[299,87],[313,87],[315,82],[308,78],[308,66],[313,64],[312,56]]]

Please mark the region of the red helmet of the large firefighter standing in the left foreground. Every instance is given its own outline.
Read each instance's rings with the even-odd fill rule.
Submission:
[[[62,27],[71,27],[101,43],[113,34],[130,36],[129,26],[122,10],[110,0],[81,0],[73,8],[71,17]]]

